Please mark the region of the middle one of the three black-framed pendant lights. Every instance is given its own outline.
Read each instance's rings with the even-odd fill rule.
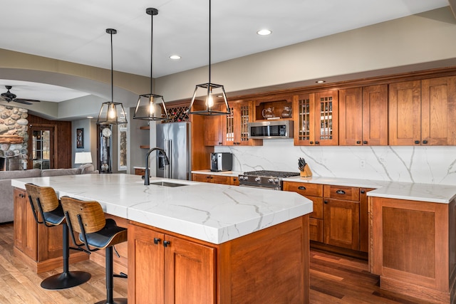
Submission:
[[[137,120],[170,120],[170,116],[166,110],[165,100],[163,96],[155,95],[152,93],[152,37],[153,37],[153,25],[154,25],[154,16],[158,14],[157,9],[148,8],[145,10],[147,15],[150,15],[150,93],[139,95],[138,103],[136,103],[135,114],[133,114],[133,119]],[[165,113],[161,114],[157,111],[155,107],[158,102],[162,103],[163,111]]]

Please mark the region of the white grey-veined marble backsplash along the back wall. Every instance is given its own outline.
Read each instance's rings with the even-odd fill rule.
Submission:
[[[375,179],[456,186],[455,146],[294,146],[293,140],[264,140],[260,147],[215,147],[232,152],[234,171],[298,172],[304,157],[314,176]],[[363,161],[363,162],[362,162]]]

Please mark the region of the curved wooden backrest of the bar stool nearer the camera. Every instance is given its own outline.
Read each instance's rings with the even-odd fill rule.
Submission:
[[[68,212],[69,220],[73,231],[79,234],[85,232],[86,234],[92,234],[93,232],[100,231],[106,224],[105,213],[101,208],[98,201],[81,201],[79,199],[73,199],[72,197],[63,196],[61,197],[61,203],[63,211]],[[81,221],[84,224],[84,231],[79,226],[78,216],[81,217]]]

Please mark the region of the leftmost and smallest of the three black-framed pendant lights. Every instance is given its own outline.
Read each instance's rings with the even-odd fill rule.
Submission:
[[[127,123],[127,115],[122,103],[114,103],[114,83],[113,83],[113,35],[117,33],[114,28],[106,28],[106,33],[111,36],[111,101],[101,105],[98,114],[98,125],[121,125]]]

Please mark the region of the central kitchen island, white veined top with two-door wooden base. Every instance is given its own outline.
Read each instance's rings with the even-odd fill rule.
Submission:
[[[309,303],[312,203],[299,194],[129,174],[11,184],[27,182],[128,219],[130,303]]]

